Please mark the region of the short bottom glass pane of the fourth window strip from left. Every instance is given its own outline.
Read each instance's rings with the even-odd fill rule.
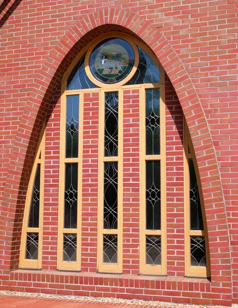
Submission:
[[[161,264],[161,236],[146,236],[146,264]]]

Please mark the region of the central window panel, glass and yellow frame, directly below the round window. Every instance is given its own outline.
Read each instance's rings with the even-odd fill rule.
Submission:
[[[107,273],[122,273],[122,94],[121,89],[101,91],[99,104],[98,272]]]

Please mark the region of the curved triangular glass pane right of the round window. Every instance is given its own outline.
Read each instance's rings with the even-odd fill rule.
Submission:
[[[159,83],[160,70],[144,50],[142,50],[140,47],[138,47],[138,50],[140,54],[138,68],[133,78],[127,83],[127,85]]]

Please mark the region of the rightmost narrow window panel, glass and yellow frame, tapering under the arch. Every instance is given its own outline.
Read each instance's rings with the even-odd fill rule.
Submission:
[[[202,187],[184,119],[185,275],[210,277],[209,246]]]

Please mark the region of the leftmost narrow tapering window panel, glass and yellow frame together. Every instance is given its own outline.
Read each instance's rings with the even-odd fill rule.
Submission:
[[[45,124],[39,136],[27,190],[19,260],[20,268],[41,268],[42,266],[44,164]]]

